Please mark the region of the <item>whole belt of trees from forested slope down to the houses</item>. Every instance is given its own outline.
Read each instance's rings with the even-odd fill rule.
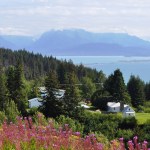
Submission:
[[[48,88],[53,82],[51,88],[66,89],[66,97],[68,93],[76,93],[70,96],[70,105],[71,99],[77,99],[77,95],[82,100],[91,100],[94,106],[102,110],[106,110],[108,101],[130,104],[140,110],[150,100],[150,82],[144,83],[138,76],[131,75],[126,85],[119,69],[106,77],[103,71],[82,64],[74,65],[71,60],[57,60],[26,50],[0,48],[0,70],[1,110],[9,99],[15,102],[19,111],[25,113],[27,99],[38,95],[35,87],[45,85],[51,95]]]

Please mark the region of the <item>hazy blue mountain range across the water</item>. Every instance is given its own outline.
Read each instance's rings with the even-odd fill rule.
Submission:
[[[92,33],[81,29],[51,30],[32,36],[0,36],[0,47],[54,56],[150,56],[150,42],[125,33]]]

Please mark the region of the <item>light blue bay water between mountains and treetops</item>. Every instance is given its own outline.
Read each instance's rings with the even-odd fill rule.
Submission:
[[[116,69],[123,73],[125,83],[131,75],[139,76],[144,82],[150,81],[150,57],[124,56],[57,56],[60,60],[72,60],[75,64],[83,64],[90,68],[102,70],[109,76]]]

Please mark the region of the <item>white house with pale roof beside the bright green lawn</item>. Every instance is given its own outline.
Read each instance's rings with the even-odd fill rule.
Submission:
[[[120,112],[120,103],[108,102],[108,112],[117,113]],[[124,109],[122,111],[124,117],[135,116],[135,111],[129,106],[124,104]]]

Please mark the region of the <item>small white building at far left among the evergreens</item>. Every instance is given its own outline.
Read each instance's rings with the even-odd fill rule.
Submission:
[[[32,108],[32,107],[39,107],[42,105],[42,99],[41,98],[32,98],[32,99],[29,99],[28,100],[29,102],[29,107]]]

